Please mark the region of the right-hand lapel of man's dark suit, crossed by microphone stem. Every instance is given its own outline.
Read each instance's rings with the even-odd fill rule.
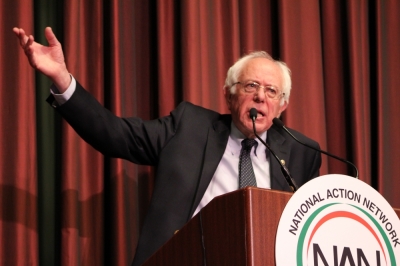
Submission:
[[[275,152],[279,159],[284,160],[286,166],[289,168],[290,158],[290,147],[286,138],[272,126],[268,130],[267,143],[270,148]],[[271,188],[277,190],[291,191],[290,187],[286,183],[285,177],[281,172],[281,166],[272,154],[269,156],[270,161],[270,177],[271,177]]]

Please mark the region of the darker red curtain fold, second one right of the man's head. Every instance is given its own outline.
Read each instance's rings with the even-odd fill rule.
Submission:
[[[322,1],[321,33],[323,52],[323,87],[326,123],[326,150],[343,158],[351,155],[347,145],[348,131],[337,133],[339,128],[347,127],[348,78],[345,56],[347,55],[345,28],[345,9],[339,1]],[[347,56],[346,56],[347,57]],[[340,103],[340,104],[338,104]],[[337,110],[337,111],[336,111]],[[314,123],[313,123],[314,124]],[[321,143],[322,144],[322,143]],[[322,148],[325,148],[322,146]],[[350,159],[350,158],[349,158]],[[338,173],[346,173],[348,166],[338,160],[328,159],[328,168]],[[350,172],[352,173],[352,172]]]

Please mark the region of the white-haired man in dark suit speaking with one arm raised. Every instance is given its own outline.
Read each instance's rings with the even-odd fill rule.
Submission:
[[[249,54],[229,69],[223,93],[230,115],[183,102],[169,116],[143,121],[116,117],[85,91],[69,74],[50,28],[45,31],[47,52],[22,29],[14,28],[14,32],[31,65],[54,83],[48,101],[85,141],[105,155],[157,165],[133,265],[142,264],[212,198],[239,188],[241,142],[255,139],[251,108],[258,112],[257,135],[296,173],[299,186],[319,175],[320,154],[272,125],[272,119],[288,105],[291,81],[286,65],[265,52]],[[315,141],[292,132],[319,148]],[[280,165],[258,140],[248,156],[253,184],[289,191]]]

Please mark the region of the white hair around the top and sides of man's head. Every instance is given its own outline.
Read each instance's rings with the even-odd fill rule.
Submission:
[[[244,55],[239,60],[237,60],[236,63],[233,64],[233,66],[231,66],[228,69],[228,73],[227,73],[226,79],[225,79],[225,87],[230,88],[231,94],[235,94],[236,86],[232,86],[232,85],[237,82],[240,72],[242,71],[245,64],[250,59],[254,59],[254,58],[266,58],[266,59],[274,62],[277,66],[279,66],[279,68],[282,71],[282,77],[283,77],[282,92],[285,93],[284,97],[281,100],[281,105],[283,105],[284,102],[289,103],[290,90],[292,89],[292,80],[290,77],[290,69],[288,68],[288,66],[286,65],[285,62],[274,60],[267,52],[264,52],[264,51],[252,52],[247,55]]]

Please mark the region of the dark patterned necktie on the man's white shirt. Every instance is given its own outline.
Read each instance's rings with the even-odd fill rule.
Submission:
[[[250,152],[251,148],[256,145],[255,139],[244,139],[242,141],[242,150],[239,157],[239,188],[247,186],[256,187],[257,181],[254,175],[253,165],[251,164]]]

